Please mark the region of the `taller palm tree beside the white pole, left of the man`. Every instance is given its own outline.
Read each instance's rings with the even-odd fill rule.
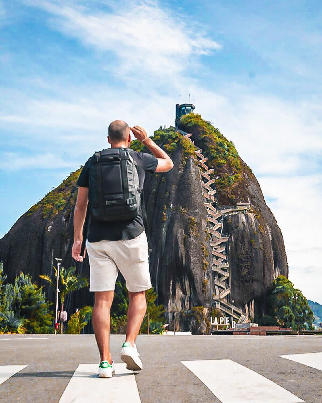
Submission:
[[[57,268],[54,266],[55,270],[55,277],[57,278]],[[64,267],[60,267],[59,270],[59,278],[60,278],[60,303],[61,303],[61,308],[60,312],[64,310],[64,300],[66,298],[66,295],[72,291],[77,291],[83,287],[88,287],[88,280],[86,277],[82,277],[79,274],[75,273],[76,267],[70,267],[68,269],[65,269]],[[54,290],[56,290],[56,281],[52,281],[52,279],[49,276],[39,276],[40,278],[43,278],[43,280],[46,280],[51,287],[53,287]],[[63,334],[63,321],[62,321],[62,315],[60,315],[60,334]]]

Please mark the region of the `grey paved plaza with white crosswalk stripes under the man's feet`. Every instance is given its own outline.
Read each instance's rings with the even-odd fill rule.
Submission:
[[[0,335],[1,402],[322,402],[322,336],[139,335],[143,370],[98,378],[94,335]]]

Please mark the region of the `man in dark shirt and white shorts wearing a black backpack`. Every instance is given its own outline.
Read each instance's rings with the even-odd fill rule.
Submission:
[[[149,148],[153,155],[130,149],[131,131],[136,139],[142,141]],[[134,164],[137,164],[138,178],[136,177],[136,180],[139,181],[140,188],[143,187],[145,172],[167,172],[173,168],[171,158],[150,137],[147,137],[147,132],[140,126],[129,127],[123,120],[114,120],[109,125],[107,141],[111,144],[112,149],[114,147],[120,149],[120,151],[114,150],[115,152],[123,156],[128,152],[134,160]],[[105,149],[105,153],[107,152],[106,150],[109,149]],[[97,155],[101,154],[94,154],[94,156]],[[129,295],[126,339],[121,350],[121,359],[126,362],[126,368],[129,370],[142,370],[142,362],[139,358],[140,354],[137,351],[135,342],[147,310],[145,291],[150,289],[152,284],[147,235],[144,231],[141,207],[138,208],[134,218],[126,220],[123,220],[124,217],[121,217],[122,220],[118,221],[92,219],[86,239],[86,249],[83,256],[81,256],[83,225],[88,203],[91,217],[93,213],[93,206],[91,206],[92,187],[93,182],[95,183],[93,180],[91,181],[89,198],[89,178],[92,172],[90,168],[91,161],[93,161],[91,158],[85,163],[77,181],[78,195],[74,210],[72,257],[79,262],[83,262],[86,250],[89,255],[89,291],[95,293],[92,323],[101,356],[99,377],[111,378],[112,374],[115,374],[115,370],[114,360],[109,351],[110,308],[114,298],[118,271],[120,270],[126,280],[126,288]],[[127,157],[127,159],[129,160],[130,157]],[[97,157],[97,160],[99,160],[99,157]],[[130,161],[132,160],[130,159]],[[116,178],[119,171],[116,169],[109,172],[112,172],[110,173],[112,176],[110,179],[113,183],[113,179],[114,177]],[[135,177],[135,174],[136,171],[133,170],[132,175],[134,176],[132,176],[132,179]],[[120,198],[119,195],[115,195],[114,197],[115,199]],[[131,200],[127,200],[128,204],[130,204]],[[120,200],[108,200],[106,204],[115,208],[119,202]],[[128,206],[124,208],[128,208]]]

